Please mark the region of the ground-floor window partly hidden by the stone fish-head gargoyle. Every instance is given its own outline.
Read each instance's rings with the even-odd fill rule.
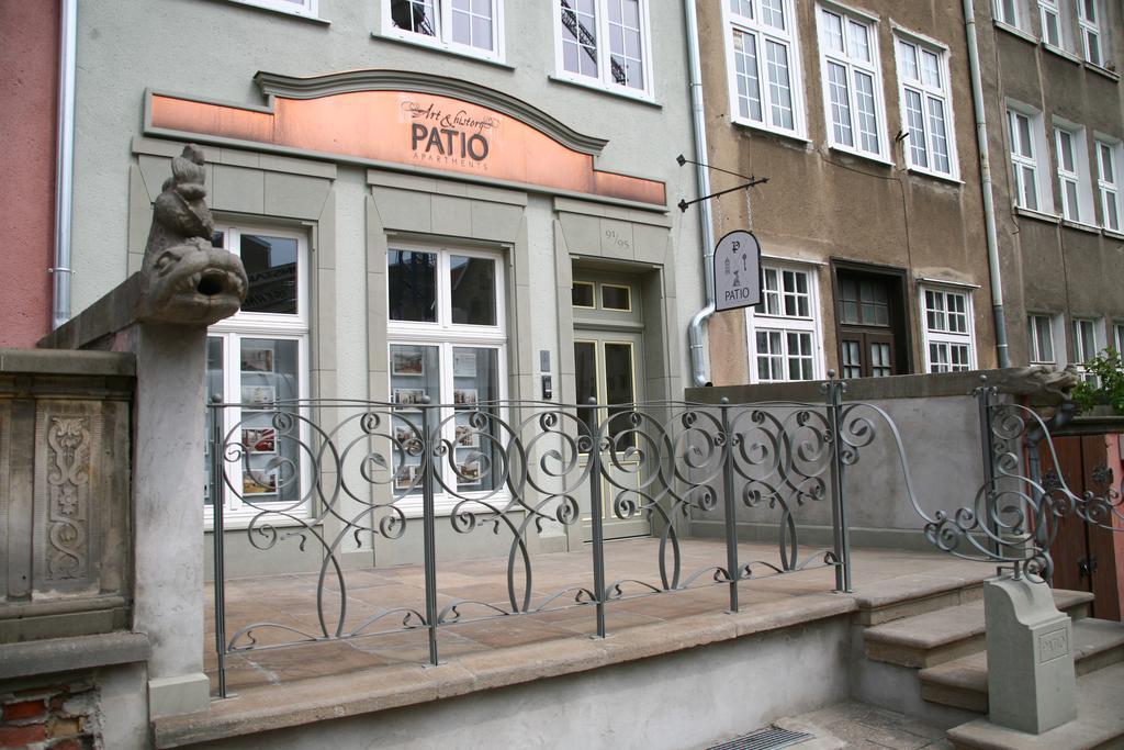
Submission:
[[[245,451],[242,461],[224,464],[234,487],[241,488],[221,490],[224,513],[307,512],[297,445],[302,435],[278,435],[270,413],[275,403],[307,397],[307,238],[272,228],[218,226],[212,242],[241,256],[250,278],[242,309],[212,325],[207,336],[208,400],[238,405],[224,409],[221,432],[227,440],[241,440]],[[208,409],[208,436],[212,417]],[[208,518],[214,501],[208,487]]]

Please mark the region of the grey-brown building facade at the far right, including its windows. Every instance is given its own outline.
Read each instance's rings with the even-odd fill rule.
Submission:
[[[1120,3],[978,3],[1012,363],[1124,345]]]

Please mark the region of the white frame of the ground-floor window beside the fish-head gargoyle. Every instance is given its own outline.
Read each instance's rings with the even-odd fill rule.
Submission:
[[[243,234],[255,234],[255,235],[266,235],[271,237],[289,237],[297,241],[297,313],[296,314],[278,314],[278,313],[250,313],[245,310],[238,310],[230,317],[219,320],[218,323],[211,325],[207,329],[208,337],[221,338],[223,340],[223,394],[224,400],[228,404],[237,404],[242,400],[242,372],[239,367],[241,352],[242,352],[242,340],[243,338],[271,338],[274,341],[296,341],[297,342],[297,394],[299,399],[307,399],[309,396],[309,305],[310,296],[308,293],[309,289],[309,241],[308,234],[306,232],[285,229],[270,225],[257,225],[243,222],[216,223],[216,232],[221,232],[224,234],[223,246],[234,254],[239,252],[239,240]],[[305,409],[301,409],[305,412]],[[242,409],[239,407],[227,407],[223,409],[224,425],[223,425],[223,437],[224,440],[230,434],[230,431],[243,421]],[[302,443],[308,444],[308,427],[306,424],[300,426],[299,439]],[[210,435],[206,436],[206,440],[210,440]],[[278,500],[277,505],[280,508],[284,508],[285,515],[266,515],[263,519],[272,524],[291,524],[291,517],[311,517],[314,508],[308,505],[309,489],[311,487],[310,471],[311,467],[308,466],[306,460],[308,457],[302,454],[301,466],[300,466],[300,497],[306,499],[306,503],[300,508],[292,508],[291,504],[285,500]],[[227,467],[235,467],[232,472],[232,478],[237,481],[242,477],[241,464],[227,464]],[[229,470],[229,469],[228,469]],[[226,487],[220,485],[220,493],[223,496],[223,523],[224,527],[229,528],[232,523],[235,527],[239,524],[244,525],[248,523],[252,518],[257,516],[263,508],[268,508],[269,501],[257,501],[254,505],[243,503],[241,498],[234,493],[230,493]],[[214,528],[215,525],[215,510],[212,505],[203,506],[203,521],[207,528]]]

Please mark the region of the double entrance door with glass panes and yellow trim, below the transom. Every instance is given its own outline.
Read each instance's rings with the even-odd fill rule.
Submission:
[[[605,539],[647,535],[652,530],[647,516],[626,510],[643,503],[641,496],[629,491],[629,488],[641,486],[644,467],[636,452],[631,450],[636,448],[636,434],[628,428],[631,425],[625,416],[634,408],[635,403],[644,400],[636,369],[636,363],[643,361],[641,335],[577,331],[573,354],[577,401],[581,405],[596,398],[598,404],[596,407],[579,408],[579,416],[590,432],[605,430],[609,437],[600,446],[604,449],[600,453],[602,476],[599,481]],[[589,541],[592,517],[588,491],[583,493],[582,500],[582,539]],[[616,507],[623,509],[619,515]]]

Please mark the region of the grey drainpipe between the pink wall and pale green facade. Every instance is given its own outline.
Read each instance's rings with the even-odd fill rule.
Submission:
[[[74,75],[78,0],[60,2],[58,134],[55,154],[55,264],[52,327],[71,317],[71,196],[74,184]]]

